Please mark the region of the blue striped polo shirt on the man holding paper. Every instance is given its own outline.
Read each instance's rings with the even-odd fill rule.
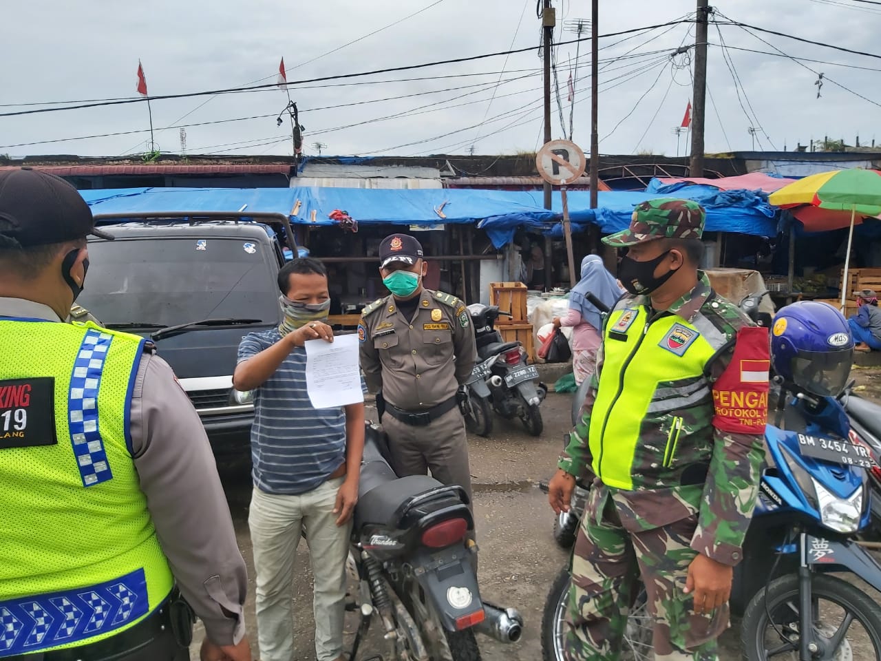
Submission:
[[[248,333],[239,362],[281,339],[277,328]],[[345,461],[343,407],[316,409],[306,390],[306,349],[298,346],[275,374],[254,390],[252,476],[266,494],[305,494],[322,485]]]

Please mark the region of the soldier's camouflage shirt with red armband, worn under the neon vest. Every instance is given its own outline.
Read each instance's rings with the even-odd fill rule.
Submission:
[[[611,495],[622,524],[633,531],[653,529],[697,513],[698,527],[692,548],[716,561],[737,564],[741,560],[741,545],[755,505],[764,458],[769,368],[766,330],[749,328],[751,323],[747,317],[716,295],[703,273],[698,285],[671,305],[666,315],[652,313],[648,296],[626,295],[615,309],[640,307],[648,308],[652,315],[647,329],[658,318],[669,318],[671,314],[685,322],[699,324],[721,340],[721,348],[707,361],[704,374],[694,382],[658,383],[655,390],[653,404],[663,398],[684,402],[681,411],[673,411],[668,417],[678,420],[677,437],[687,439],[680,441],[677,448],[678,463],[659,461],[659,457],[664,456],[663,449],[670,449],[673,430],[668,427],[672,423],[664,423],[647,413],[633,452],[632,488],[603,484],[591,469],[594,464],[588,442],[591,416],[603,375],[609,324],[616,322],[613,311],[603,331],[596,374],[581,422],[569,434],[568,446],[559,458],[559,468],[584,482],[596,479],[595,487]],[[744,329],[750,333],[758,331],[759,336],[753,334],[745,339]],[[625,382],[623,372],[630,370],[635,370],[637,375],[648,371],[645,358],[641,362],[625,363],[621,383]],[[749,382],[744,383],[744,378]],[[603,379],[603,382],[610,380]],[[747,390],[749,397],[745,394]],[[744,405],[746,399],[751,406]],[[608,440],[608,445],[614,451],[614,439]]]

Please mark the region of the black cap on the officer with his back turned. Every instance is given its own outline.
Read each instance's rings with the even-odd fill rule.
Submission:
[[[0,248],[30,248],[93,234],[92,210],[70,183],[30,167],[0,172]]]

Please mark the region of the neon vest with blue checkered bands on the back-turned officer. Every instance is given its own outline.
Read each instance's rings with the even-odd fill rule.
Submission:
[[[116,635],[174,586],[130,452],[143,351],[0,318],[0,657]]]

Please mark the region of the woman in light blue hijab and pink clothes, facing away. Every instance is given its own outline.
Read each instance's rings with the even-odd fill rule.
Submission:
[[[596,351],[602,341],[603,318],[600,311],[587,300],[588,293],[609,308],[624,293],[624,288],[606,271],[602,258],[597,255],[589,255],[581,260],[581,280],[569,293],[569,312],[565,317],[553,320],[555,328],[573,328],[572,368],[575,382],[579,385],[596,371]]]

